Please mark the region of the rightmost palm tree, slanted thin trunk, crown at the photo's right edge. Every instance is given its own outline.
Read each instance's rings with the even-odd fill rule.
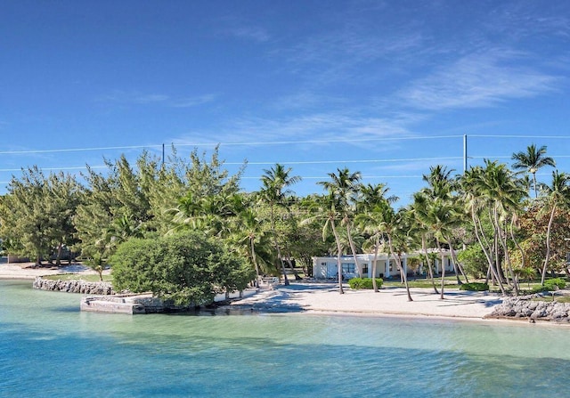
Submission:
[[[549,226],[546,231],[546,256],[544,256],[541,277],[541,283],[544,285],[546,267],[550,261],[550,232],[554,215],[558,207],[567,207],[570,205],[570,175],[558,173],[558,170],[553,171],[552,183],[550,183],[550,185],[542,184],[541,191],[544,193],[545,208],[550,207]]]

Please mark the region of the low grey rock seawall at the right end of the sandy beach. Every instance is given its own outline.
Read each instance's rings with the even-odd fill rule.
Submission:
[[[519,296],[505,298],[493,313],[485,318],[514,318],[529,321],[570,322],[570,304],[536,301],[533,298],[541,295]]]

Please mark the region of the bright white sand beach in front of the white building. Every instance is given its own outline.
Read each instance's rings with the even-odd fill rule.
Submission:
[[[275,289],[259,289],[231,304],[231,308],[259,311],[309,312],[309,313],[352,313],[375,316],[431,316],[482,320],[500,305],[500,296],[484,292],[468,292],[458,289],[445,290],[444,300],[433,289],[412,288],[408,301],[404,288],[381,288],[352,290],[345,288],[345,294],[338,293],[333,284],[291,283]]]

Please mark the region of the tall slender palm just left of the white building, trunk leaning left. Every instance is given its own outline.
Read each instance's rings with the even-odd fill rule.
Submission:
[[[297,183],[301,180],[299,176],[289,175],[291,168],[285,168],[279,163],[269,170],[264,170],[265,175],[262,175],[261,182],[263,187],[261,189],[261,197],[269,204],[271,211],[271,230],[273,233],[273,240],[275,248],[277,250],[277,257],[281,262],[281,272],[283,273],[283,279],[285,286],[289,285],[289,279],[287,278],[287,272],[285,272],[285,264],[283,263],[283,258],[281,256],[281,248],[279,246],[279,241],[277,240],[277,234],[275,232],[275,207],[281,206],[284,199],[291,193],[289,191],[289,186]]]

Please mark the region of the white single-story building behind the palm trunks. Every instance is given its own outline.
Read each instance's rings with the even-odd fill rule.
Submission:
[[[436,253],[437,258],[432,263],[434,272],[440,273],[441,271],[441,258],[439,252],[435,249],[430,249],[429,252]],[[427,267],[423,266],[425,261],[422,253],[413,252],[410,254],[403,253],[400,255],[402,259],[403,269],[406,274],[418,273],[423,274],[427,272]],[[323,256],[313,257],[313,277],[317,280],[336,279],[338,278],[338,257],[337,256]],[[341,256],[340,264],[342,267],[342,274],[345,279],[350,278],[371,278],[372,277],[372,263],[374,261],[374,254],[360,254],[356,255],[358,265],[354,264],[354,256]],[[413,266],[412,266],[413,263]],[[444,267],[445,272],[453,272],[452,257],[449,250],[444,250]],[[413,269],[413,271],[412,271]],[[395,259],[387,253],[379,253],[376,261],[376,278],[390,278],[400,275],[400,269],[397,267]]]

